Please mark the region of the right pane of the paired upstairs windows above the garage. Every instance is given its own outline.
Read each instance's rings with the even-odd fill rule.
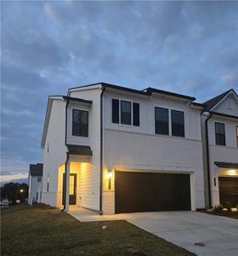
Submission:
[[[171,110],[172,136],[184,137],[184,112]]]

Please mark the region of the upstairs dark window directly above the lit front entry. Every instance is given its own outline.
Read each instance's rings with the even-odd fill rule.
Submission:
[[[88,137],[88,111],[73,109],[72,135]]]

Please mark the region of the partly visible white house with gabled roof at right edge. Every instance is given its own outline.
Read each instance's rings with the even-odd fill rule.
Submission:
[[[206,207],[238,205],[238,96],[231,89],[204,102],[201,115]]]

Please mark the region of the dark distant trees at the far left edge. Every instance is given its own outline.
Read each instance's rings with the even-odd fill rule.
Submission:
[[[26,183],[6,183],[1,187],[1,200],[7,198],[15,204],[16,200],[25,201],[28,197],[28,185]]]

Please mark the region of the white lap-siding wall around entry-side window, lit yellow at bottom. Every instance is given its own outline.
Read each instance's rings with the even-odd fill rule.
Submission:
[[[68,133],[68,143],[88,145],[93,151],[90,158],[90,164],[82,165],[80,175],[80,206],[87,207],[99,211],[99,195],[100,195],[100,95],[101,90],[77,90],[71,91],[71,97],[82,98],[84,100],[93,101],[92,106],[88,110],[88,138],[72,138],[71,128]],[[69,108],[71,111],[73,105]],[[70,113],[69,117],[72,116]],[[69,119],[69,122],[71,120]]]

